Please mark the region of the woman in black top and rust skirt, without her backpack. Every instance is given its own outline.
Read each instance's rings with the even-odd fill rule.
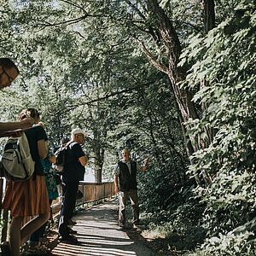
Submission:
[[[35,161],[35,171],[32,177],[22,182],[7,183],[3,199],[3,209],[10,210],[12,222],[9,228],[9,253],[5,255],[20,256],[20,246],[35,230],[49,219],[49,196],[44,179],[44,168],[41,159],[48,154],[47,135],[44,128],[38,125],[39,113],[35,108],[24,109],[19,119],[31,117],[34,120],[32,129],[25,131],[29,143],[32,159]],[[23,227],[22,220],[28,216],[32,218]],[[7,252],[7,244],[2,252]],[[4,253],[3,253],[4,255]]]

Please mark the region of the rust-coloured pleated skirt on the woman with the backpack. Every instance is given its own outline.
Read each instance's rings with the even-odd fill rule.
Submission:
[[[13,217],[49,212],[49,196],[44,176],[37,175],[24,182],[8,182],[3,209],[10,210]]]

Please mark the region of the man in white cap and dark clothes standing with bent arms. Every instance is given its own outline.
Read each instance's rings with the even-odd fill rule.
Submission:
[[[61,235],[61,241],[73,244],[76,244],[78,240],[75,236],[71,235],[72,230],[68,225],[71,222],[75,208],[79,181],[84,180],[84,166],[88,162],[81,148],[85,137],[86,133],[79,128],[73,129],[71,132],[71,141],[68,143],[62,174],[64,199],[61,207],[59,234]]]

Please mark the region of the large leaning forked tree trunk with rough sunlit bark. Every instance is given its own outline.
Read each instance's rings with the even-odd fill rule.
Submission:
[[[177,85],[179,81],[183,80],[185,78],[186,71],[182,69],[177,69],[177,62],[179,60],[179,56],[181,53],[181,44],[177,37],[177,32],[172,26],[172,21],[169,19],[169,17],[166,15],[163,9],[160,8],[160,5],[155,0],[149,0],[148,1],[148,11],[151,13],[154,13],[157,22],[157,29],[159,30],[160,38],[166,45],[166,49],[168,49],[168,55],[169,55],[169,62],[168,67],[163,67],[163,65],[160,67],[158,66],[158,69],[163,71],[168,75],[168,78],[171,81],[172,84],[172,90],[174,92],[177,106],[181,113],[181,125],[183,126],[183,135],[185,138],[187,138],[187,131],[189,130],[188,125],[184,125],[185,122],[187,122],[189,119],[198,119],[199,115],[195,109],[195,104],[192,102],[192,95],[187,89],[180,89]],[[141,44],[141,46],[143,46]],[[148,51],[145,50],[145,47],[143,48],[143,51],[147,54]],[[157,67],[156,61],[152,59],[151,55],[148,55],[149,61]],[[159,64],[159,63],[158,63]],[[201,146],[198,143],[197,138],[195,137],[189,137],[189,141],[186,141],[186,145],[188,146],[187,152],[189,156],[193,154],[196,150],[201,148]],[[193,146],[192,146],[193,145]]]

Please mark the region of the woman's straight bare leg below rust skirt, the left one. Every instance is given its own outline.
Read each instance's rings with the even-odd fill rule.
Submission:
[[[20,229],[23,217],[12,218],[9,228],[10,256],[20,256]]]

